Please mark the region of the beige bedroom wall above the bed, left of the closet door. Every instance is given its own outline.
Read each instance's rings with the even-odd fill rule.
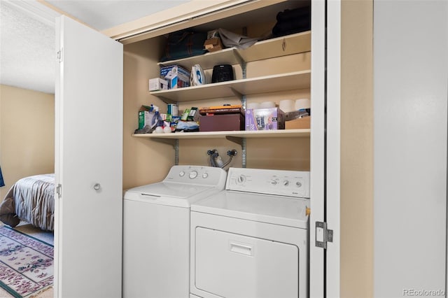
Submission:
[[[55,96],[0,85],[0,165],[5,186],[55,171]]]

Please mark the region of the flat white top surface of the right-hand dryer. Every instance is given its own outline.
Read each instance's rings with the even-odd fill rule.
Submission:
[[[223,190],[191,205],[192,211],[307,229],[309,199]]]

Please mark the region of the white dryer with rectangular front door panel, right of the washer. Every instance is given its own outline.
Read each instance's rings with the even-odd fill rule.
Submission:
[[[309,172],[230,168],[191,205],[190,297],[308,297]]]

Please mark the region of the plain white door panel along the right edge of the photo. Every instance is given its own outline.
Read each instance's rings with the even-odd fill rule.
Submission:
[[[446,297],[448,2],[374,1],[374,295]]]

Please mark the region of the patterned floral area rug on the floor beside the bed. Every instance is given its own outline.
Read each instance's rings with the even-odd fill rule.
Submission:
[[[53,283],[53,246],[0,227],[0,286],[13,297],[31,297]]]

